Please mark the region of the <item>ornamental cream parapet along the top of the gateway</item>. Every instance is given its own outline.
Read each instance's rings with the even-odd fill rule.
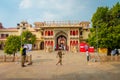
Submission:
[[[44,21],[35,22],[35,28],[47,28],[47,27],[85,27],[89,28],[90,22],[84,21]]]

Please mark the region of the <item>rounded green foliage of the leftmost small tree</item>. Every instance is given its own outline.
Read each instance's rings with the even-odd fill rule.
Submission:
[[[4,52],[7,54],[15,54],[20,49],[20,37],[9,36],[5,42]]]

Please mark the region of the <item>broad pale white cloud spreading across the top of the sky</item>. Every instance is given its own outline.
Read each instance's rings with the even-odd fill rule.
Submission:
[[[21,9],[31,8],[30,12],[37,12],[40,19],[48,21],[70,18],[84,12],[86,6],[78,2],[78,0],[22,0],[19,6]]]

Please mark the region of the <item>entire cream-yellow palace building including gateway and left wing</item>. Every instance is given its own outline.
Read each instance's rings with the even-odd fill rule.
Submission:
[[[45,21],[34,22],[32,27],[26,21],[22,21],[14,28],[4,28],[0,23],[0,49],[4,48],[6,38],[10,35],[20,35],[28,30],[36,35],[33,49],[54,51],[62,48],[68,51],[79,51],[80,43],[86,41],[90,33],[88,21]]]

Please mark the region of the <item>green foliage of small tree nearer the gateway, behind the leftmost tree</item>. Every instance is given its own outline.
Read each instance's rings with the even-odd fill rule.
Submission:
[[[22,44],[34,44],[36,41],[36,36],[30,31],[24,31],[21,36]]]

